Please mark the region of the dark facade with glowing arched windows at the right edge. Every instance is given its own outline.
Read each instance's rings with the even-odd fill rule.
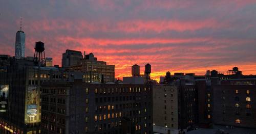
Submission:
[[[215,85],[214,123],[256,128],[256,85]]]

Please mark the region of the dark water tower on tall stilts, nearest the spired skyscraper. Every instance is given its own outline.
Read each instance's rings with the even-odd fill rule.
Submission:
[[[42,53],[44,53],[44,55]],[[45,66],[45,43],[41,41],[35,43],[35,53],[33,61],[36,66]]]

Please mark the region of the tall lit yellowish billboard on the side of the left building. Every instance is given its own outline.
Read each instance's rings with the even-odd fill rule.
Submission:
[[[39,87],[27,87],[25,100],[25,123],[40,122]]]

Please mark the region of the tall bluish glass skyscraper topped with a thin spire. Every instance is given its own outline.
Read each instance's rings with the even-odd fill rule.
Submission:
[[[22,19],[20,19],[20,30],[16,33],[15,38],[15,58],[25,57],[25,33],[22,31]]]

